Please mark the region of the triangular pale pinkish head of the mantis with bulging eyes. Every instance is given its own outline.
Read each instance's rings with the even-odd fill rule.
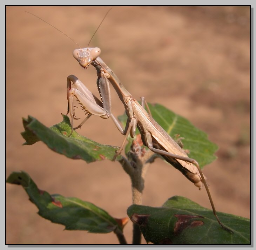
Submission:
[[[96,58],[100,55],[100,48],[82,48],[75,49],[73,51],[74,58],[79,62],[79,64],[84,68],[88,68],[88,66],[96,60]]]

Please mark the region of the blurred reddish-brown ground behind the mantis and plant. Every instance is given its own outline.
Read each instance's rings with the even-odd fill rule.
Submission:
[[[7,7],[6,176],[24,170],[40,189],[75,196],[121,218],[131,204],[129,177],[118,162],[70,160],[39,142],[21,146],[22,117],[46,126],[66,113],[66,79],[74,74],[93,92],[94,68],[83,70],[72,56],[78,46],[29,11],[88,42],[109,7]],[[161,103],[209,134],[218,159],[204,168],[218,211],[250,217],[250,8],[113,7],[91,47],[139,100]],[[112,89],[113,113],[124,112]],[[79,113],[79,112],[78,112]],[[80,116],[82,117],[82,113]],[[78,115],[79,116],[79,115]],[[80,133],[120,146],[113,122],[91,117]],[[25,191],[6,185],[7,244],[115,244],[111,234],[63,231],[36,212]],[[160,159],[146,176],[144,205],[161,206],[181,195],[210,208],[198,189]],[[131,242],[132,223],[124,229]],[[144,242],[144,241],[143,241]]]

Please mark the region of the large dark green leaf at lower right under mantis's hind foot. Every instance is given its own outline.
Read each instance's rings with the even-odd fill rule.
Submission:
[[[138,224],[147,242],[154,244],[250,244],[250,220],[213,211],[181,196],[167,200],[162,207],[131,205],[127,214]]]

